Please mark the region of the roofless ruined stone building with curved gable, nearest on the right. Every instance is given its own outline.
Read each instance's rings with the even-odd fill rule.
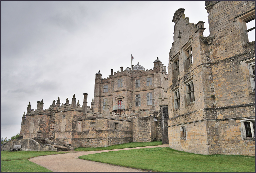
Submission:
[[[199,154],[255,156],[254,1],[206,1],[204,22],[173,17],[168,66],[169,146]],[[166,101],[165,101],[166,102]]]

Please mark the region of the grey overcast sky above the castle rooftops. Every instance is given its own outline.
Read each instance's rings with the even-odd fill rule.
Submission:
[[[75,94],[82,105],[88,93],[90,105],[95,74],[131,68],[131,54],[132,65],[158,57],[167,69],[179,8],[209,35],[204,1],[1,1],[1,138],[20,132],[29,102],[48,109]]]

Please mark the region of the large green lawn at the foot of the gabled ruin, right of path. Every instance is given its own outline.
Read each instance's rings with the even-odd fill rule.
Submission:
[[[168,147],[110,151],[79,158],[157,172],[255,172],[253,156],[201,155]]]

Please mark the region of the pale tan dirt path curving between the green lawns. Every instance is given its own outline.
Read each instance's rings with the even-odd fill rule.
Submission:
[[[105,163],[93,162],[83,159],[78,159],[79,156],[102,153],[108,151],[118,150],[132,150],[141,148],[154,148],[154,147],[169,147],[168,144],[145,146],[136,148],[116,149],[116,150],[104,150],[104,151],[70,151],[66,154],[56,154],[48,156],[38,156],[28,159],[38,165],[41,165],[54,172],[144,172],[140,169],[126,168],[122,166],[115,166]]]

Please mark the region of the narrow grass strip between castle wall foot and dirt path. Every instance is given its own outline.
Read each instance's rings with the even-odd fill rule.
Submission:
[[[96,147],[96,148],[85,148],[79,147],[75,151],[100,151],[100,150],[114,150],[114,149],[123,149],[123,148],[134,148],[134,147],[143,147],[143,146],[155,146],[162,145],[162,141],[154,142],[129,142],[125,144],[111,145],[107,147]]]

